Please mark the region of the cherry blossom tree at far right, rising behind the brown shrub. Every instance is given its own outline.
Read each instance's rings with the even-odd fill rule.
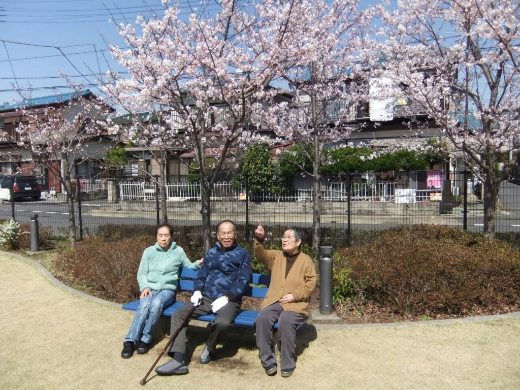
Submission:
[[[520,3],[401,0],[379,8],[380,75],[425,112],[453,158],[484,184],[484,232],[495,236],[500,183],[520,159]],[[497,166],[505,162],[502,170]]]

